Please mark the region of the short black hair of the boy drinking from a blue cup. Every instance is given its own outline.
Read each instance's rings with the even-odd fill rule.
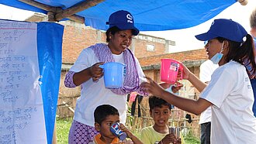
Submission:
[[[112,105],[99,105],[95,111],[94,111],[94,119],[95,122],[99,123],[99,125],[101,125],[101,123],[106,119],[107,116],[109,115],[118,115],[119,116],[119,112],[118,110],[113,107]]]

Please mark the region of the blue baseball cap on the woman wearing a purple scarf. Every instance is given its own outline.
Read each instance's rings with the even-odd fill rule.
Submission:
[[[106,22],[109,28],[116,26],[121,30],[133,29],[133,35],[137,36],[140,31],[134,26],[133,15],[130,12],[120,10],[109,16],[109,22]]]

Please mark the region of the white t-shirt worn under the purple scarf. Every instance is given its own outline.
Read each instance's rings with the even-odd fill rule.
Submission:
[[[120,55],[112,54],[114,60],[123,63],[123,53]],[[137,63],[137,71],[140,77],[140,82],[144,81],[144,72],[140,67],[140,63],[135,58]],[[71,71],[79,72],[93,64],[99,63],[98,58],[92,49],[84,49],[81,51],[78,60],[71,67]],[[92,78],[81,84],[81,97],[78,98],[74,111],[74,120],[85,125],[94,126],[94,111],[99,105],[112,105],[119,111],[120,122],[126,122],[126,99],[127,95],[114,94],[110,89],[105,88],[103,77],[98,82],[93,82]]]

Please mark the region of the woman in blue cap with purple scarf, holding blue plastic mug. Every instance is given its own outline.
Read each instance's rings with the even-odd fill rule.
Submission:
[[[133,15],[127,11],[117,11],[109,16],[109,29],[106,31],[107,43],[97,43],[94,46],[82,50],[78,60],[68,71],[64,84],[66,87],[81,85],[81,97],[78,98],[74,120],[69,132],[69,143],[88,143],[98,134],[94,128],[93,111],[99,105],[112,105],[119,110],[120,122],[126,122],[126,99],[133,91],[144,95],[140,87],[144,78],[144,72],[140,63],[129,50],[133,36],[137,36],[139,30],[134,26]],[[126,64],[126,76],[123,87],[119,89],[107,89],[102,68],[99,65],[107,62],[119,62]],[[169,87],[168,84],[162,84]]]

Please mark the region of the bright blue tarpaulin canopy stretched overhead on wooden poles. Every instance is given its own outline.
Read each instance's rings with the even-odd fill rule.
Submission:
[[[85,0],[36,0],[45,5],[68,9]],[[123,9],[131,12],[135,25],[140,31],[160,31],[185,29],[212,19],[237,0],[106,0],[91,8],[78,12],[85,17],[85,25],[106,30],[106,21],[112,12]],[[38,9],[18,0],[2,0],[3,5],[33,12],[47,11]]]

